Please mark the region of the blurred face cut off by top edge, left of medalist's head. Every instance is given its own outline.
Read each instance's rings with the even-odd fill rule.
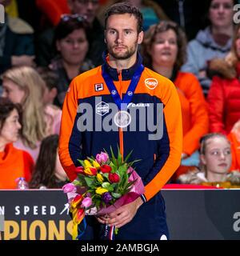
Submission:
[[[87,22],[92,24],[99,7],[98,0],[68,0],[72,14],[80,14],[86,17]]]

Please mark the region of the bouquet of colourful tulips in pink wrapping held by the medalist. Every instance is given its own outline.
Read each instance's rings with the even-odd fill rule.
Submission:
[[[74,240],[82,235],[78,234],[78,224],[85,221],[86,214],[110,214],[144,193],[142,179],[131,167],[139,160],[127,162],[130,158],[128,154],[123,161],[119,148],[117,158],[112,148],[110,154],[111,157],[101,152],[96,158],[78,160],[81,166],[76,167],[77,178],[62,187],[69,198]],[[110,240],[113,238],[113,230],[114,227],[111,227]]]

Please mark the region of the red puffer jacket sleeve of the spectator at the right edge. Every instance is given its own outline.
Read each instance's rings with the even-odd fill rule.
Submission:
[[[209,109],[210,132],[226,134],[223,123],[224,92],[221,78],[214,77],[207,97]]]

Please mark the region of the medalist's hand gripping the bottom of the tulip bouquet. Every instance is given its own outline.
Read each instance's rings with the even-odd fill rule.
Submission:
[[[117,210],[111,214],[108,214],[107,216],[98,217],[98,222],[119,228],[134,218],[138,208],[141,205],[142,199],[137,198],[134,202],[130,202],[125,206],[119,207]]]

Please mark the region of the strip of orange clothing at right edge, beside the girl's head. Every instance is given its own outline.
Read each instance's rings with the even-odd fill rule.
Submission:
[[[234,133],[230,133],[227,138],[230,140],[232,152],[232,166],[230,170],[240,171],[240,142]]]

